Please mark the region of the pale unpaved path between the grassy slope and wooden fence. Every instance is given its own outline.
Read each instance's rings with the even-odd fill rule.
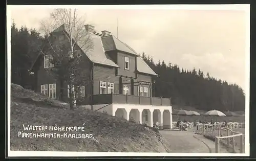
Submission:
[[[168,146],[174,153],[215,153],[215,143],[197,135],[193,131],[169,131],[163,130],[160,133],[169,142]],[[227,153],[224,148],[221,152]]]

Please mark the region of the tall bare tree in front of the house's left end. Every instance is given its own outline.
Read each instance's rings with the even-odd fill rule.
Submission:
[[[55,9],[41,22],[40,31],[45,35],[46,44],[41,52],[49,60],[49,74],[60,83],[61,99],[63,84],[68,84],[71,109],[76,105],[81,86],[90,83],[84,53],[93,50],[93,42],[84,25],[85,20],[78,16],[77,9]]]

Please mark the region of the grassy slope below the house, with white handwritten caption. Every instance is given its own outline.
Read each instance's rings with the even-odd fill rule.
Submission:
[[[94,139],[20,138],[23,124],[83,126]],[[59,101],[11,84],[11,150],[169,152],[168,147],[162,135],[151,128],[80,107],[69,110]]]

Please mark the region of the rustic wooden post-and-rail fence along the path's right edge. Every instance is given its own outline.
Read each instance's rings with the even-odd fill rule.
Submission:
[[[220,143],[227,147],[232,147],[233,152],[244,153],[244,134],[241,132],[233,131],[230,128],[220,125],[197,125],[197,132],[202,132],[205,137],[215,141],[215,151],[220,152]]]

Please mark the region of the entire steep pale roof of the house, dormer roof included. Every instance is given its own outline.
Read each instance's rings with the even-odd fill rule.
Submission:
[[[65,25],[60,26],[53,32],[65,30]],[[120,41],[113,35],[100,36],[101,34],[89,33],[88,36],[93,41],[93,48],[83,49],[82,45],[77,42],[77,45],[83,50],[87,57],[94,63],[119,67],[105,52],[112,50],[119,50],[137,56],[137,71],[144,74],[155,75],[157,74],[151,69],[150,66],[133,50],[129,45]],[[38,58],[38,57],[37,57]]]

